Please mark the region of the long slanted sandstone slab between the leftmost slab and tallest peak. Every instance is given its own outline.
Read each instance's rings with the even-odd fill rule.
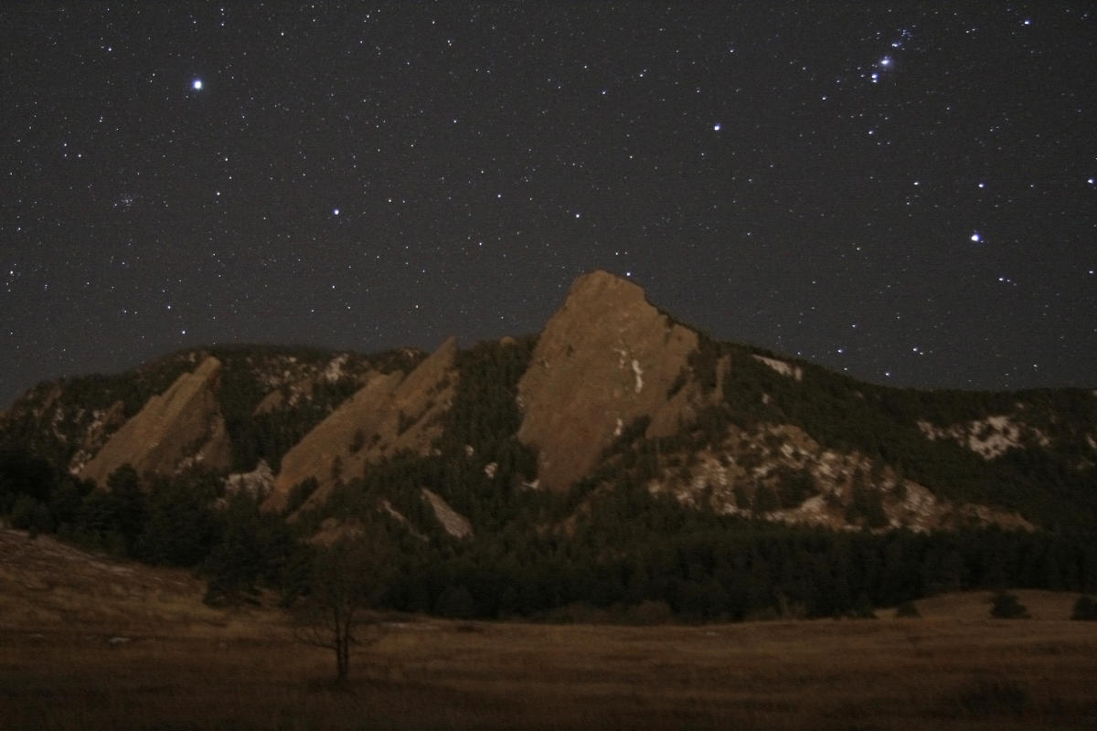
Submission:
[[[439,418],[453,401],[457,343],[445,341],[410,374],[376,373],[365,386],[321,421],[282,457],[268,511],[284,510],[290,491],[315,478],[309,503],[327,499],[336,482],[362,475],[366,465],[400,449],[427,454],[442,433]]]

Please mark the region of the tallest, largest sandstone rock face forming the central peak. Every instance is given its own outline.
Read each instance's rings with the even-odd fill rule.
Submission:
[[[579,277],[518,385],[518,437],[540,450],[541,483],[562,490],[587,475],[638,416],[652,419],[649,437],[674,433],[690,399],[668,391],[697,345],[635,284],[607,272]]]

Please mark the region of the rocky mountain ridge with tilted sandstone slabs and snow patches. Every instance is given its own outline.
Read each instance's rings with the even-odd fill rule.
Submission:
[[[1097,391],[864,384],[715,342],[606,272],[579,277],[535,338],[430,355],[189,351],[39,384],[0,432],[100,488],[125,464],[146,483],[200,469],[237,484],[261,467],[268,512],[319,526],[365,500],[425,536],[440,504],[465,535],[502,529],[532,500],[518,494],[566,505],[567,528],[621,486],[828,529],[1097,518]]]

